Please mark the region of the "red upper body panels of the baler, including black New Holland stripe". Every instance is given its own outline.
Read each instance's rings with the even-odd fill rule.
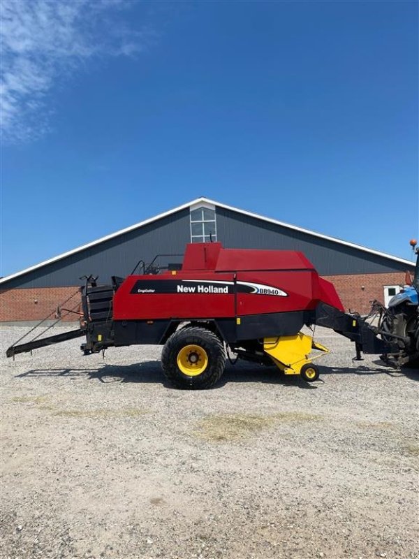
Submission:
[[[182,269],[131,275],[115,293],[115,321],[227,319],[315,310],[344,310],[335,287],[301,252],[224,249],[189,244]]]

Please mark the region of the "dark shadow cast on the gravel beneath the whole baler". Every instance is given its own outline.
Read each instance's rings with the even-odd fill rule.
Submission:
[[[389,377],[408,377],[419,380],[419,370],[392,368],[368,368],[362,365],[358,367],[328,367],[321,365],[320,379],[309,384],[304,382],[299,375],[283,375],[275,367],[258,367],[247,365],[227,365],[226,371],[220,381],[211,389],[220,389],[230,383],[263,383],[279,384],[303,390],[316,390],[322,382],[322,376],[328,375],[388,375]],[[106,365],[100,368],[60,368],[60,369],[33,369],[16,375],[15,378],[24,377],[88,377],[99,382],[135,382],[138,384],[163,384],[168,389],[173,389],[166,380],[161,370],[160,361],[145,361],[136,365]]]

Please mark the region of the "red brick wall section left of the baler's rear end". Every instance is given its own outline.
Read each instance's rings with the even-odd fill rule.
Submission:
[[[1,289],[0,321],[42,320],[50,312],[52,312],[50,319],[54,319],[57,305],[63,303],[73,293],[75,295],[63,306],[80,312],[82,300],[80,288],[77,286]],[[62,312],[62,315],[63,320],[78,320],[76,314]]]

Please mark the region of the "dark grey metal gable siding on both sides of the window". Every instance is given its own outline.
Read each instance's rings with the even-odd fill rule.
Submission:
[[[404,271],[406,265],[384,256],[318,238],[308,233],[264,222],[224,208],[216,208],[217,240],[226,248],[299,250],[321,275],[351,275]],[[57,262],[10,279],[1,289],[61,287],[82,284],[82,275],[99,275],[108,283],[112,275],[124,277],[142,259],[152,261],[156,254],[183,254],[190,242],[189,209],[142,226],[117,238],[101,242]],[[161,263],[179,259],[162,259]],[[412,264],[413,266],[413,264]]]

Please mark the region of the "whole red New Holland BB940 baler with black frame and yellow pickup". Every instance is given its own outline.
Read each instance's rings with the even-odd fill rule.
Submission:
[[[182,266],[112,277],[82,288],[82,318],[75,331],[14,344],[8,357],[75,337],[89,355],[108,347],[161,344],[161,365],[180,389],[216,384],[226,359],[277,365],[306,382],[318,378],[314,360],[328,351],[302,333],[303,326],[332,328],[361,351],[401,354],[402,336],[385,332],[358,314],[344,312],[335,287],[319,277],[301,252],[226,249],[220,242],[187,245]]]

